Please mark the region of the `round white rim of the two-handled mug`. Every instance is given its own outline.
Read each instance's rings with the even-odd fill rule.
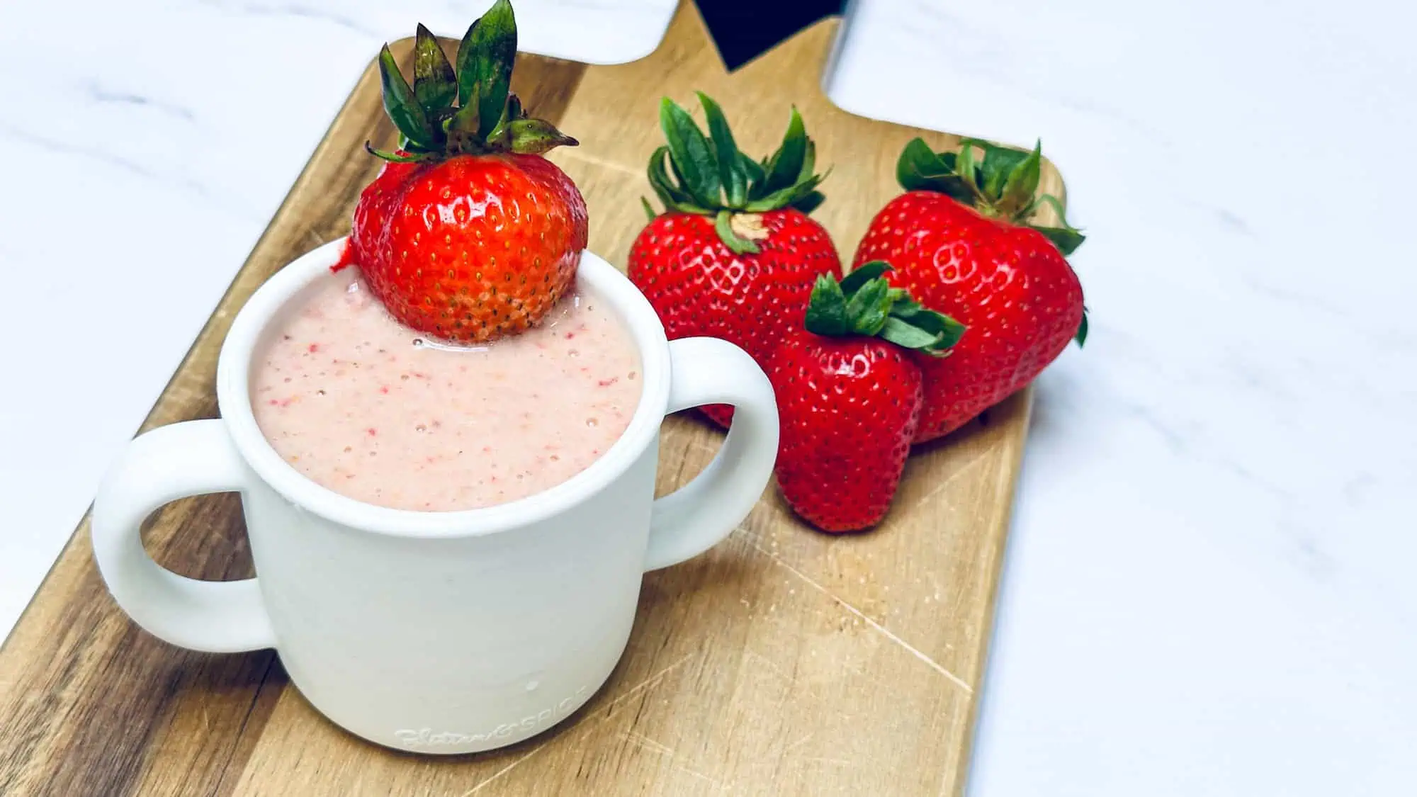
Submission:
[[[669,339],[649,299],[619,269],[585,250],[577,281],[609,302],[639,349],[639,406],[625,433],[598,459],[564,482],[506,503],[424,512],[357,501],[317,484],[286,462],[261,433],[251,407],[251,359],[262,333],[306,286],[330,274],[347,237],[323,244],[272,274],[247,299],[217,357],[217,407],[237,451],[256,478],[286,501],[326,520],[402,537],[492,535],[565,512],[621,478],[659,434],[669,406]]]

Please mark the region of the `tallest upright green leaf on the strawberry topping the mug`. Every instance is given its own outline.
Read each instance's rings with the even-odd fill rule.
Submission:
[[[512,67],[517,57],[517,21],[512,3],[497,0],[487,13],[472,23],[458,48],[458,102],[466,125],[476,113],[478,135],[486,138],[502,121],[512,85]],[[473,111],[475,108],[475,111]]]

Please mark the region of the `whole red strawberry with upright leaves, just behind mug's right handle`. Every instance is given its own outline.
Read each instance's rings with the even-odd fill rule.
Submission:
[[[665,99],[667,146],[649,159],[649,184],[665,203],[629,251],[629,278],[649,298],[670,339],[707,335],[767,363],[778,340],[802,325],[812,282],[842,274],[832,238],[808,213],[822,203],[812,172],[816,146],[792,109],[781,149],[762,162],[738,150],[718,105],[699,94],[704,136]],[[669,157],[677,180],[665,167]],[[733,408],[704,407],[728,425]]]

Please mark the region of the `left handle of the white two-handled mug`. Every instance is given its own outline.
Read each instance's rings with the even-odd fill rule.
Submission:
[[[154,637],[203,652],[275,647],[255,579],[201,581],[159,566],[140,528],[170,501],[241,491],[249,476],[225,424],[186,421],[136,437],[94,501],[94,559],[118,606]]]

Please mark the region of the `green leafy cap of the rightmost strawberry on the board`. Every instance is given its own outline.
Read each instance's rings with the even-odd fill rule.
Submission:
[[[1043,142],[1033,152],[992,145],[981,139],[961,139],[959,152],[932,152],[924,139],[905,145],[896,162],[896,179],[907,191],[938,191],[975,208],[981,216],[1027,227],[1053,241],[1071,255],[1085,235],[1067,223],[1063,201],[1053,194],[1039,194],[1043,179]],[[979,156],[975,155],[979,150]],[[1058,217],[1058,227],[1034,224],[1044,206]],[[1087,340],[1087,308],[1074,335],[1077,345]]]

